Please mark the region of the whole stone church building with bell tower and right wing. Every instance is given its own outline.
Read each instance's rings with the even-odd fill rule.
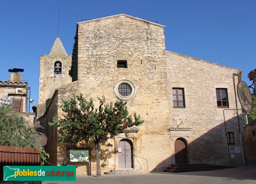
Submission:
[[[107,102],[124,100],[129,112],[144,120],[127,130],[128,137],[120,133],[100,145],[102,172],[246,162],[234,89],[242,71],[166,51],[164,27],[125,14],[79,22],[72,56],[59,38],[50,54],[41,56],[39,104],[33,110],[53,165],[76,165],[81,175],[91,167],[96,173],[94,144],[60,143],[57,128],[48,125],[62,115],[56,103],[80,93],[94,103],[103,95]],[[72,159],[87,152],[89,159]]]

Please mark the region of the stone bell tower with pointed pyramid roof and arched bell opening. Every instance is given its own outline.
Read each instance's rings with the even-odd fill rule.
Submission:
[[[52,98],[55,88],[72,82],[68,75],[72,55],[68,55],[60,41],[56,38],[49,55],[40,56],[38,104]]]

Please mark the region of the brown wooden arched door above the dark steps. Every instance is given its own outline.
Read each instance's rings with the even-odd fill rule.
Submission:
[[[188,164],[187,143],[183,138],[177,138],[175,143],[175,163]]]

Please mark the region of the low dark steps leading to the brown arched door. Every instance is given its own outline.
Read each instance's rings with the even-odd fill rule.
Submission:
[[[211,171],[219,169],[223,169],[223,167],[207,164],[172,164],[171,167],[165,169],[164,172],[181,173],[193,171]]]

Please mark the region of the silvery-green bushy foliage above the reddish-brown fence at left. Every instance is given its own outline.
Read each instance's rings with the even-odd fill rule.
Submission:
[[[1,99],[0,99],[1,100]],[[39,148],[40,139],[24,114],[14,112],[11,103],[0,103],[0,145]]]

